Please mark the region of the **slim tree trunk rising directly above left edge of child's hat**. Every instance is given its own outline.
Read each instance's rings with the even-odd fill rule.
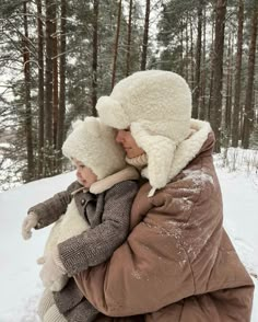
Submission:
[[[66,116],[66,70],[67,70],[67,0],[61,0],[61,36],[60,36],[60,91],[59,91],[59,111],[58,111],[58,133],[57,133],[57,149],[58,149],[58,171],[61,172],[63,128]]]

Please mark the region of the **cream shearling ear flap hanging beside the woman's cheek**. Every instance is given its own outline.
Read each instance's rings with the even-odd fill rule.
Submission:
[[[153,188],[164,187],[168,182],[176,143],[167,137],[150,134],[139,123],[131,124],[131,134],[148,154],[148,168],[143,174]]]

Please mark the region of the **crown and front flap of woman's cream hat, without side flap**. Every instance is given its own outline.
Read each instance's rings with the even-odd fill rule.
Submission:
[[[110,96],[102,96],[96,108],[101,119],[115,128],[141,122],[144,128],[175,140],[188,134],[191,92],[177,73],[163,70],[138,71],[119,81]],[[184,123],[179,124],[178,123]]]

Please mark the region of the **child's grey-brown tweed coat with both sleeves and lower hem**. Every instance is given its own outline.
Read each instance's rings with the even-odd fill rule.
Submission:
[[[32,207],[37,214],[38,227],[44,228],[56,221],[67,210],[73,195],[80,215],[89,221],[91,229],[58,245],[60,258],[68,275],[72,276],[82,269],[106,261],[126,240],[129,232],[130,210],[138,192],[136,181],[117,183],[108,191],[94,195],[80,189],[78,183],[67,191]],[[70,278],[66,287],[54,292],[56,306],[68,321],[91,322],[98,311],[84,298]]]

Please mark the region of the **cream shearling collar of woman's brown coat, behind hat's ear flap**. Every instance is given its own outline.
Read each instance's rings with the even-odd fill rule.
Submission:
[[[207,122],[191,119],[190,129],[192,134],[179,143],[175,150],[167,182],[175,177],[198,154],[202,145],[207,140],[209,133],[211,131],[211,126]],[[171,158],[169,154],[162,157]],[[148,166],[141,171],[141,174],[142,176],[149,179]],[[149,196],[154,195],[154,193],[155,188],[152,188]]]

